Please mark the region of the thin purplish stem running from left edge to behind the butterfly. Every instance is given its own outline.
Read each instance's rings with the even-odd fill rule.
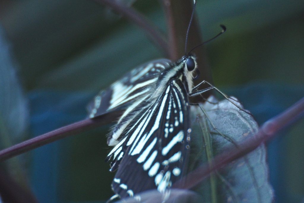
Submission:
[[[78,121],[3,149],[0,151],[0,162],[67,136],[75,135],[92,128],[97,128],[101,125],[108,124],[110,121],[116,120],[120,113],[120,111],[111,112],[93,119]]]

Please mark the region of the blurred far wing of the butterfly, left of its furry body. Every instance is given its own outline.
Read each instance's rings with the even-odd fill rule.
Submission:
[[[155,82],[159,74],[171,61],[158,59],[145,63],[123,76],[109,88],[99,92],[88,104],[89,117],[93,118],[105,112],[120,110],[128,107],[146,88]]]

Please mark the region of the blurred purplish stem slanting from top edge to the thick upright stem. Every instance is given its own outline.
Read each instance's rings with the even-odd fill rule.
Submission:
[[[142,28],[146,31],[148,36],[151,38],[151,40],[154,42],[154,44],[157,45],[157,47],[160,47],[165,55],[167,57],[170,56],[170,49],[168,47],[168,44],[166,42],[166,37],[164,34],[155,26],[149,19],[147,19],[145,16],[137,12],[133,8],[129,8],[123,4],[118,4],[115,1],[112,0],[94,0],[98,4],[102,4],[105,6],[111,7],[114,11],[117,13],[123,15],[127,19],[129,19],[131,22],[135,23],[137,26]]]

